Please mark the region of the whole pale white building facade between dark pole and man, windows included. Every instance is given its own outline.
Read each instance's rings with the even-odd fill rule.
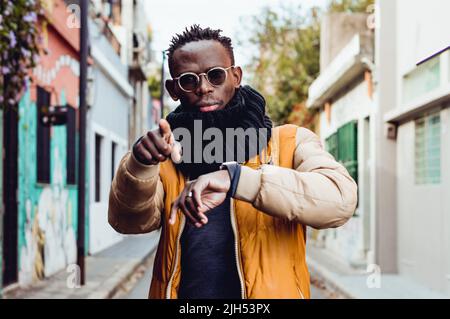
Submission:
[[[105,11],[104,3],[90,6],[89,39],[93,64],[89,70],[88,167],[89,253],[95,254],[122,239],[108,223],[108,193],[120,158],[128,150],[129,114],[134,90],[121,43],[111,25],[120,3]],[[112,10],[114,9],[114,10]]]

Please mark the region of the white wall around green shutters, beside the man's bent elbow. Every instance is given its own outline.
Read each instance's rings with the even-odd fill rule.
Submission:
[[[369,118],[374,102],[368,95],[367,83],[362,80],[350,91],[334,101],[331,108],[331,121],[325,112],[320,113],[320,132],[325,140],[346,123],[358,121],[358,177],[359,207],[356,216],[338,229],[321,231],[319,238],[325,238],[325,246],[336,256],[353,266],[362,266],[366,262],[366,252],[370,240],[370,173],[369,173]]]

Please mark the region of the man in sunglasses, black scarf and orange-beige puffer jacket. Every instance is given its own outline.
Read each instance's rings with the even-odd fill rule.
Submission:
[[[122,159],[109,222],[129,234],[161,228],[150,298],[309,298],[306,226],[343,225],[357,186],[314,133],[272,128],[220,33],[194,25],[172,39],[165,85],[180,106]],[[230,129],[256,140],[233,143],[242,134]],[[176,130],[191,137],[179,162]],[[225,136],[210,155],[208,130]]]

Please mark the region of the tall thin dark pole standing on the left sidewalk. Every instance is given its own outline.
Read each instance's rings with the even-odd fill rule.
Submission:
[[[79,116],[79,152],[78,152],[78,229],[77,264],[80,269],[80,285],[86,283],[85,271],[85,225],[86,225],[86,89],[88,57],[88,0],[80,1],[80,106]]]

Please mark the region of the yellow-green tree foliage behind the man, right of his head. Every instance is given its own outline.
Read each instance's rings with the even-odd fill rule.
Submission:
[[[374,0],[330,0],[325,11],[313,7],[265,8],[250,20],[247,41],[254,48],[248,69],[252,85],[267,100],[277,123],[313,128],[305,106],[308,89],[320,71],[320,20],[328,12],[369,12]]]

